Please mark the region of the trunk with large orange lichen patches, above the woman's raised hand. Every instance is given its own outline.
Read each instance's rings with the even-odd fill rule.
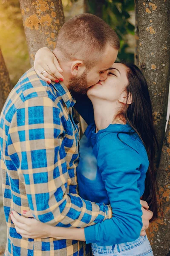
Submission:
[[[61,0],[20,0],[23,26],[33,65],[35,53],[41,47],[55,48],[55,41],[64,24]]]

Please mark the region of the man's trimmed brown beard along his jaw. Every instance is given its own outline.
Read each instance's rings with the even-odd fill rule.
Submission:
[[[87,87],[87,72],[86,70],[80,77],[73,77],[69,80],[69,90],[75,93],[85,94],[88,90]]]

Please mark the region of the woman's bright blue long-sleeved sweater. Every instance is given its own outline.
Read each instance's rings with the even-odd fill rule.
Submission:
[[[97,134],[95,125],[88,126],[80,144],[79,194],[92,202],[111,204],[113,215],[85,228],[87,244],[120,244],[139,237],[140,197],[148,166],[144,145],[128,124],[109,125]]]

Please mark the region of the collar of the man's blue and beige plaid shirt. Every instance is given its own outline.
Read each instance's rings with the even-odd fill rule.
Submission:
[[[55,87],[55,90],[57,90],[58,93],[60,93],[63,102],[66,104],[67,108],[70,108],[73,105],[75,105],[75,99],[72,97],[71,93],[69,92],[68,88],[63,82],[55,83],[52,81],[51,84]]]

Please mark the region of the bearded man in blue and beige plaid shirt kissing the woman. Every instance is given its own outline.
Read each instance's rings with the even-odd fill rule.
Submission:
[[[54,51],[64,84],[47,84],[32,68],[10,93],[0,116],[6,256],[89,254],[81,241],[23,239],[11,222],[13,209],[19,214],[30,209],[38,221],[61,227],[86,227],[112,217],[109,206],[78,196],[79,129],[69,90],[85,93],[105,80],[118,48],[117,35],[103,20],[74,17],[61,28]]]

